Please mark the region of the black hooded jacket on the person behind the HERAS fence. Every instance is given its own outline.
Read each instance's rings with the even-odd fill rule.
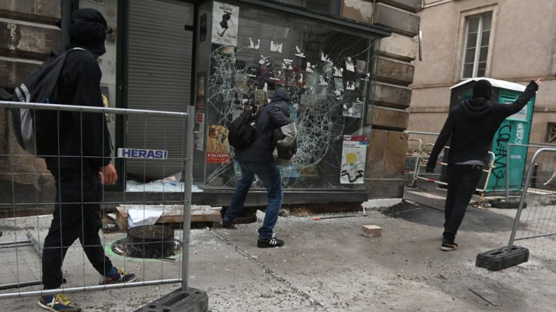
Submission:
[[[106,30],[106,20],[97,10],[73,12],[67,49],[81,47],[88,52],[74,50],[67,54],[53,103],[103,107],[97,57],[106,52]],[[57,127],[60,157],[46,158],[53,174],[96,174],[110,163],[112,144],[104,114],[60,112]]]

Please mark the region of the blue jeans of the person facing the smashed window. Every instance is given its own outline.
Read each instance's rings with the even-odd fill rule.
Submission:
[[[266,205],[266,216],[262,227],[259,228],[259,237],[268,239],[272,237],[272,229],[278,221],[280,206],[282,206],[282,181],[280,179],[280,169],[273,163],[253,163],[247,161],[238,161],[241,167],[241,180],[236,187],[234,197],[231,198],[230,205],[224,214],[224,221],[231,222],[241,213],[243,203],[249,192],[249,188],[255,179],[255,174],[262,181],[266,188],[266,194],[269,197],[269,203]]]

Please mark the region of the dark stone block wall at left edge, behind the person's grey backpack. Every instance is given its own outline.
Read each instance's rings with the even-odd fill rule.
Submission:
[[[0,87],[13,89],[31,70],[60,48],[59,0],[0,1]],[[27,214],[28,209],[48,211],[54,184],[44,161],[27,156],[11,131],[11,116],[0,109],[0,216]],[[10,204],[17,205],[10,205]],[[28,203],[29,205],[22,205]]]

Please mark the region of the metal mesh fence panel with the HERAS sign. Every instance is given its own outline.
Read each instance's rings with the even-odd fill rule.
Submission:
[[[98,283],[94,285],[93,281],[96,278],[92,276],[99,276],[97,271],[92,269],[87,257],[85,256],[85,248],[99,247],[98,245],[87,245],[73,244],[66,255],[64,266],[62,272],[64,272],[64,282],[59,289],[53,290],[41,290],[41,288],[36,288],[35,290],[24,289],[24,287],[30,287],[31,285],[41,285],[41,276],[43,276],[43,265],[41,262],[41,256],[44,250],[41,248],[42,241],[45,238],[45,233],[49,228],[50,220],[52,216],[28,216],[22,218],[4,218],[0,219],[0,226],[3,229],[3,235],[0,237],[0,262],[2,266],[0,267],[0,290],[12,290],[11,292],[0,292],[0,299],[15,298],[15,297],[29,297],[38,295],[54,295],[59,292],[69,293],[69,292],[83,292],[89,290],[108,290],[113,288],[129,288],[145,285],[160,285],[166,283],[181,283],[183,290],[189,288],[188,285],[188,269],[189,269],[189,257],[190,257],[190,222],[191,222],[191,192],[192,192],[192,155],[193,155],[193,144],[194,144],[194,108],[192,106],[188,107],[187,113],[181,112],[161,112],[153,110],[127,110],[127,109],[117,109],[117,108],[103,108],[103,107],[88,107],[88,106],[73,106],[73,105],[55,105],[55,104],[38,104],[38,103],[19,103],[10,101],[0,101],[0,109],[6,108],[6,113],[9,109],[25,109],[29,110],[36,116],[36,112],[54,112],[56,119],[52,120],[52,125],[60,125],[62,123],[57,123],[56,120],[62,121],[64,118],[73,118],[72,121],[78,122],[80,125],[87,125],[87,119],[92,116],[97,116],[101,114],[100,119],[103,123],[103,128],[108,124],[108,122],[122,122],[126,125],[126,131],[135,131],[135,133],[141,133],[143,135],[143,144],[139,146],[124,146],[123,148],[132,148],[141,150],[136,154],[141,159],[131,159],[129,155],[126,155],[126,150],[122,153],[114,153],[112,158],[128,158],[126,163],[135,162],[139,165],[143,164],[145,167],[149,162],[157,161],[162,168],[176,168],[176,165],[180,168],[180,172],[183,172],[183,184],[179,181],[174,181],[177,186],[171,186],[166,184],[167,181],[160,181],[160,188],[162,188],[162,214],[164,214],[165,209],[169,209],[172,205],[174,208],[178,207],[183,214],[183,221],[178,223],[176,234],[173,237],[162,239],[162,241],[157,241],[153,239],[152,244],[164,244],[165,242],[173,242],[176,250],[173,251],[175,254],[171,255],[169,258],[164,259],[145,259],[133,258],[127,255],[127,253],[118,254],[115,250],[122,251],[121,248],[115,248],[115,243],[120,242],[122,248],[131,248],[130,242],[125,242],[122,240],[122,233],[118,234],[107,234],[104,230],[101,234],[101,247],[105,254],[109,255],[109,258],[113,262],[114,267],[122,268],[125,271],[133,272],[137,274],[138,281],[129,283],[116,283],[110,285],[99,285]],[[70,117],[71,116],[71,117]],[[117,116],[118,118],[114,118]],[[106,122],[105,122],[106,121]],[[133,121],[133,122],[131,122]],[[159,133],[179,133],[179,136],[173,135],[172,137],[166,139],[166,135],[160,135],[162,140],[157,142],[157,146],[150,146],[147,142],[152,142],[152,140],[147,140],[148,135],[152,135],[149,128],[149,124],[156,123],[154,129],[159,131]],[[162,121],[162,122],[160,122]],[[128,124],[140,124],[142,127],[131,128]],[[85,127],[85,126],[84,126]],[[170,127],[173,127],[172,129]],[[36,128],[36,127],[35,127]],[[153,129],[150,127],[149,129]],[[67,128],[57,128],[57,140],[61,137],[59,134],[61,131],[68,131]],[[72,161],[78,159],[78,162],[82,165],[87,161],[91,161],[94,158],[103,158],[104,156],[92,156],[83,155],[83,147],[86,144],[92,144],[88,140],[94,137],[84,138],[83,133],[85,128],[79,129],[80,141],[82,142],[81,151],[82,156],[64,156],[65,161]],[[177,131],[176,131],[177,130]],[[106,131],[102,129],[102,133],[94,133],[93,135],[101,136],[101,140],[110,140],[106,138]],[[76,134],[77,135],[77,134]],[[98,138],[98,137],[97,137]],[[173,151],[166,151],[166,156],[159,160],[151,159],[149,156],[155,155],[156,151],[165,151],[166,147],[170,145],[170,140],[175,143],[176,140],[179,141],[178,148]],[[137,144],[137,143],[135,143]],[[149,143],[150,144],[150,143]],[[13,145],[13,144],[12,144]],[[176,145],[176,144],[175,144]],[[6,147],[8,151],[19,150],[13,149],[13,147]],[[150,152],[152,151],[152,152]],[[1,153],[1,151],[0,151]],[[59,151],[58,151],[59,153]],[[127,150],[127,153],[131,153]],[[135,153],[135,152],[134,152]],[[59,154],[58,154],[59,155]],[[103,155],[103,154],[101,154]],[[159,154],[157,154],[159,155]],[[41,155],[45,156],[45,155]],[[55,155],[48,155],[54,156]],[[153,157],[154,158],[154,157]],[[60,158],[58,158],[60,159]],[[8,152],[0,154],[0,163],[8,164],[3,166],[3,168],[8,168],[6,172],[0,172],[0,178],[3,181],[10,181],[11,186],[6,186],[1,194],[0,198],[0,209],[10,210],[13,209],[13,215],[17,214],[18,209],[36,209],[43,211],[45,207],[52,209],[55,207],[56,200],[54,196],[45,196],[39,194],[39,189],[48,181],[52,180],[50,174],[45,173],[45,166],[37,163],[38,158],[33,155],[29,155],[22,152]],[[61,164],[62,162],[59,162]],[[125,170],[124,170],[125,171]],[[82,174],[80,172],[79,174]],[[164,172],[162,177],[170,175],[175,172]],[[120,179],[124,179],[125,172],[118,172]],[[140,177],[143,182],[143,187],[147,178],[143,175]],[[158,181],[155,181],[158,183]],[[151,183],[155,183],[151,182]],[[89,209],[92,205],[100,205],[101,207],[114,208],[117,205],[135,205],[139,210],[139,214],[143,214],[143,218],[148,214],[148,210],[151,205],[160,204],[160,202],[152,202],[148,198],[143,198],[141,201],[126,200],[126,191],[122,192],[122,200],[117,202],[106,202],[104,199],[101,202],[87,202],[83,200],[83,194],[85,191],[85,182],[80,182],[80,196],[81,200],[78,202],[62,202],[62,205],[72,204],[80,205],[81,213],[83,215],[84,209]],[[34,184],[34,192],[29,193],[28,190],[24,188],[25,185]],[[63,185],[63,184],[62,184]],[[52,187],[52,182],[50,182],[50,187]],[[104,193],[104,186],[101,188]],[[62,191],[59,190],[58,194],[62,196]],[[179,192],[179,200],[173,200],[176,196],[169,196],[169,198],[164,199],[164,194],[169,192]],[[60,206],[62,206],[60,205]],[[85,206],[87,205],[87,206]],[[87,207],[87,208],[85,208]],[[104,211],[104,209],[101,209]],[[103,212],[101,212],[103,214]],[[83,220],[83,218],[82,218]],[[82,221],[81,231],[83,232],[85,227],[85,221]],[[63,227],[61,228],[61,233],[63,234]],[[26,234],[21,234],[23,230],[27,229]],[[145,238],[145,232],[143,231],[143,238]],[[181,242],[176,237],[181,238]],[[80,237],[81,239],[81,237]],[[86,237],[83,237],[86,242]],[[77,239],[76,239],[77,240]],[[149,242],[138,242],[136,244],[143,246],[143,248],[150,244]],[[130,247],[131,246],[131,247]],[[62,246],[55,247],[62,248]],[[62,258],[64,256],[62,255]],[[65,273],[67,272],[67,273]],[[17,289],[17,291],[13,291]]]

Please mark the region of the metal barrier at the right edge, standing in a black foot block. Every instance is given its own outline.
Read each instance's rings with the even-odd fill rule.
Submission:
[[[556,194],[556,186],[550,181],[554,174],[536,177],[536,179],[550,181],[548,184],[543,183],[545,186],[543,190],[539,191],[538,188],[532,187],[537,183],[534,180],[534,174],[539,170],[535,164],[539,163],[542,163],[545,168],[555,168],[556,149],[541,147],[534,153],[529,162],[527,176],[520,196],[520,205],[508,243],[508,252],[511,251],[516,240],[556,235],[556,197],[553,196]],[[527,203],[527,209],[524,214],[525,203]]]

